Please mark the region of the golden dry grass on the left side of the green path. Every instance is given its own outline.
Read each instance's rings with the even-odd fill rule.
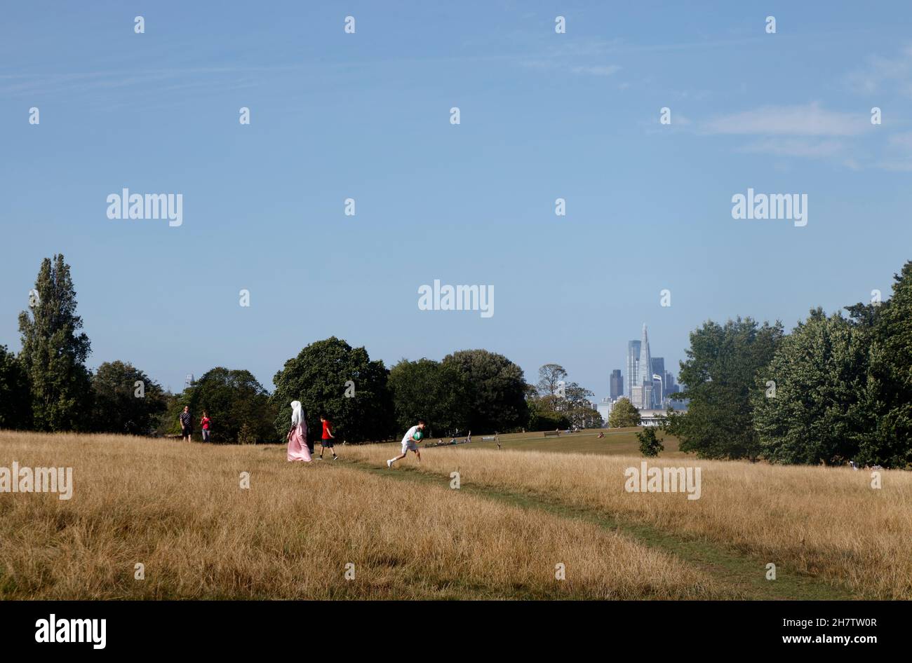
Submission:
[[[68,501],[0,494],[0,598],[733,596],[596,525],[288,464],[276,447],[0,432],[0,466],[13,461],[71,466],[75,487]]]

